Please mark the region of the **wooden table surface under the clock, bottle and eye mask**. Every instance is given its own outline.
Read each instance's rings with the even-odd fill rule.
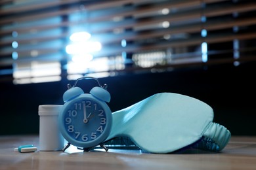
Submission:
[[[182,154],[149,154],[110,149],[82,152],[14,152],[20,145],[39,147],[38,135],[0,136],[0,169],[256,169],[256,137],[232,137],[220,153],[188,150]]]

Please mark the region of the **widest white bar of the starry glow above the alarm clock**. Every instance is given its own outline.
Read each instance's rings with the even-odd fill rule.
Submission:
[[[101,50],[100,42],[80,42],[66,46],[68,54],[89,54]]]

